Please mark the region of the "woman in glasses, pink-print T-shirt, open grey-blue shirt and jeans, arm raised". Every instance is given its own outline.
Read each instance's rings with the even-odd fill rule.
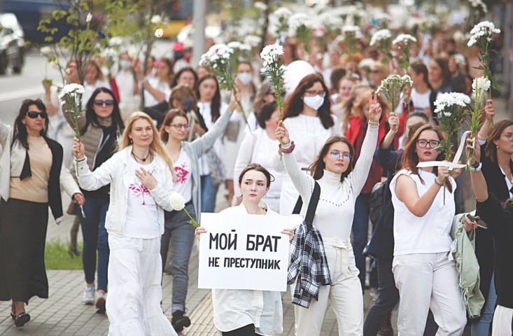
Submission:
[[[226,113],[223,113],[209,132],[195,141],[188,142],[189,123],[187,115],[180,109],[171,109],[164,117],[160,128],[160,139],[164,141],[167,154],[174,162],[176,183],[174,190],[185,200],[185,209],[191,216],[199,218],[201,214],[201,180],[199,178],[199,158],[204,151],[212,148],[218,137],[225,131],[237,101],[232,99]],[[176,332],[190,325],[190,319],[184,315],[187,296],[189,258],[194,245],[194,227],[190,225],[185,211],[165,212],[164,235],[160,245],[162,269],[167,258],[171,242],[171,274],[173,275],[171,324]]]

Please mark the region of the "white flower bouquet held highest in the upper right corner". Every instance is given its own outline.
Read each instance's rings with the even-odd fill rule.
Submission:
[[[490,69],[490,52],[489,48],[492,41],[493,34],[499,34],[500,29],[497,29],[493,22],[483,21],[479,22],[477,25],[470,30],[470,39],[468,40],[467,46],[470,48],[472,45],[475,45],[479,50],[479,65],[476,69],[483,70],[483,77],[490,80],[489,90],[491,97],[491,90],[497,89],[498,85],[496,84],[495,78],[493,78],[493,74]],[[493,123],[493,119],[492,119]]]

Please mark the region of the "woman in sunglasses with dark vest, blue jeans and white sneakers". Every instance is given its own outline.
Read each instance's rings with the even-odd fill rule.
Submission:
[[[64,113],[69,120],[69,113]],[[118,150],[118,138],[125,128],[123,126],[118,102],[114,94],[106,87],[99,87],[92,92],[87,101],[85,114],[78,118],[80,141],[85,145],[87,166],[94,171]],[[73,169],[76,165],[73,165]],[[105,216],[108,209],[108,186],[94,191],[83,190],[85,204],[77,208],[82,229],[82,262],[85,275],[85,290],[82,304],[94,304],[99,313],[105,312],[105,293],[107,291],[108,235],[105,230]],[[83,210],[83,212],[82,212]],[[94,272],[97,268],[98,279],[96,295]]]

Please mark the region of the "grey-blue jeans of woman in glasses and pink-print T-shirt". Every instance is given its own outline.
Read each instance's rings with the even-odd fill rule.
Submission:
[[[185,209],[192,218],[195,218],[192,202]],[[165,212],[164,235],[160,241],[160,256],[162,257],[162,269],[166,262],[169,241],[171,241],[171,275],[173,286],[171,289],[171,312],[185,311],[185,298],[189,281],[189,259],[194,246],[194,226],[188,223],[189,217],[185,211]]]

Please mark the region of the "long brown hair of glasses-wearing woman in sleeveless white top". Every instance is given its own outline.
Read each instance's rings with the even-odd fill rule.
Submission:
[[[419,124],[418,127],[414,128],[412,127],[412,130],[410,130],[408,142],[405,144],[405,146],[402,148],[404,154],[402,155],[402,167],[405,169],[408,169],[410,172],[419,175],[419,168],[417,168],[417,164],[419,163],[419,155],[416,153],[416,144],[417,140],[419,140],[419,137],[421,136],[421,133],[424,131],[434,131],[436,132],[438,139],[441,141],[444,139],[444,136],[442,135],[442,132],[433,124],[426,123],[426,124]],[[436,161],[442,161],[444,160],[444,153],[440,152],[440,154],[437,155]],[[433,173],[435,175],[438,174],[438,167],[433,167]],[[420,176],[419,176],[420,177]],[[421,179],[421,183],[423,184],[424,181]],[[447,189],[449,189],[449,192],[452,193],[452,185],[449,179],[445,180],[445,186],[447,186]]]

